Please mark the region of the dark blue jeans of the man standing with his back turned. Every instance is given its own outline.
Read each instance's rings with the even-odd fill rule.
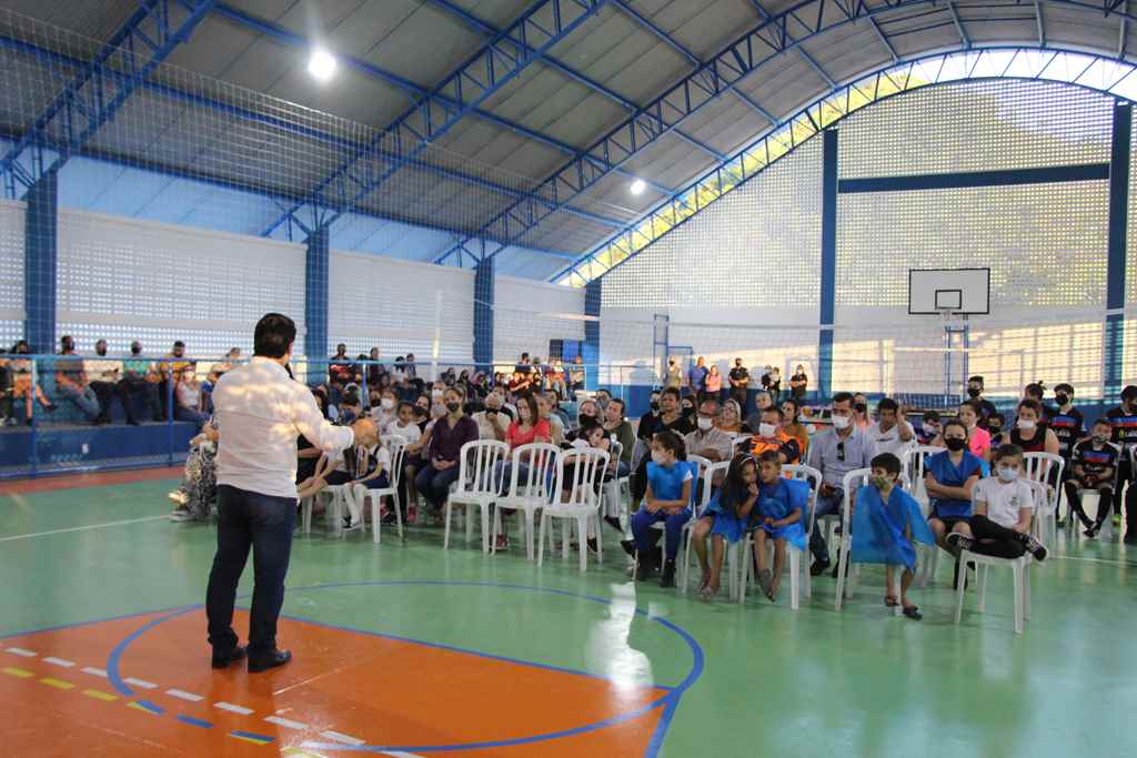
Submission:
[[[276,619],[284,603],[284,577],[292,551],[296,498],[280,498],[217,488],[217,552],[209,572],[206,614],[209,644],[216,651],[232,650],[236,585],[252,548],[252,608],[249,619],[249,657],[267,655],[276,648]]]

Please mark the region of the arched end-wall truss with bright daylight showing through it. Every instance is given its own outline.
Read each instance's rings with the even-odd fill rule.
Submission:
[[[861,108],[941,83],[981,78],[1062,82],[1123,100],[1137,100],[1137,66],[1101,56],[1051,48],[985,48],[933,53],[889,64],[830,92],[769,131],[728,163],[692,182],[619,234],[608,238],[549,281],[584,286],[681,226],[732,190],[750,181],[811,138]]]

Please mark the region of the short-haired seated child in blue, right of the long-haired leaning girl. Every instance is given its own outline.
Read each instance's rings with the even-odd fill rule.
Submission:
[[[758,502],[750,514],[754,531],[754,558],[758,566],[758,585],[770,602],[778,600],[786,566],[786,543],[805,550],[806,509],[810,507],[810,485],[782,476],[781,457],[777,450],[765,450],[758,456]],[[766,540],[774,541],[774,570],[766,568]]]

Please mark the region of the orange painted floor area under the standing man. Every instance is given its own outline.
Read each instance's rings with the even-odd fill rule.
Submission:
[[[526,738],[632,714],[667,693],[293,619],[282,619],[279,631],[294,655],[290,665],[255,675],[243,666],[215,672],[200,608],[155,625],[123,650],[117,673],[134,694],[121,693],[100,674],[113,668],[111,651],[166,616],[0,640],[5,752],[327,756],[360,755],[329,745],[367,744],[413,756],[491,743],[460,755],[644,755],[662,706],[599,728]],[[234,628],[243,634],[247,616],[238,616]],[[523,742],[499,744],[515,740]]]

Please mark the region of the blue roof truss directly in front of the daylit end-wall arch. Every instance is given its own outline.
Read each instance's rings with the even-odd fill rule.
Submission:
[[[1051,1],[1061,7],[1103,13],[1101,5],[1082,0]],[[1109,3],[1112,0],[1105,1]],[[445,263],[455,255],[460,259],[465,244],[478,239],[516,243],[638,152],[673,132],[686,118],[766,63],[790,50],[799,50],[803,42],[847,24],[866,22],[873,16],[929,5],[945,10],[938,0],[883,0],[873,7],[865,5],[864,0],[800,0],[794,3],[742,34],[662,95],[617,124],[557,169],[533,192],[533,197],[506,208],[465,242],[437,257],[434,263]],[[957,18],[955,7],[951,2],[946,5],[946,11]],[[1104,9],[1106,14],[1110,11],[1110,8]],[[1128,7],[1113,13],[1132,18]],[[970,40],[965,44],[970,44]],[[828,74],[824,76],[828,78]],[[536,195],[542,199],[538,200]],[[550,203],[543,198],[555,198],[556,202]],[[487,255],[496,256],[505,247],[503,244]]]

